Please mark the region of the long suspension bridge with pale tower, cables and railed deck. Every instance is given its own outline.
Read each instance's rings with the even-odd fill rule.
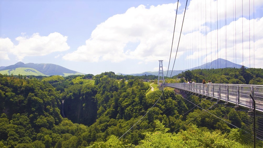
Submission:
[[[166,78],[169,77],[169,69],[171,69],[171,78],[173,71],[191,70],[193,67],[196,69],[237,68],[236,63],[239,63],[248,68],[260,68],[261,64],[255,56],[262,51],[258,38],[262,37],[262,34],[255,32],[255,26],[258,28],[257,24],[260,21],[258,18],[255,19],[257,3],[259,1],[255,0],[178,0],[170,58],[165,59],[169,61]],[[221,59],[225,59],[226,62],[222,63]],[[234,65],[229,66],[228,60]],[[255,122],[257,117],[259,117],[258,121],[263,117],[263,85],[168,83],[164,77],[163,60],[160,60],[158,76],[160,90],[171,87],[217,101],[216,103],[223,103],[225,107],[234,107],[236,111],[247,110],[254,118],[254,122],[250,122],[247,127],[253,125],[254,129],[249,127],[245,132],[252,135],[254,142],[251,143],[254,147],[256,140],[263,141],[263,124]],[[203,112],[208,112],[211,107],[206,110],[201,109],[204,110]],[[250,137],[248,140],[253,141]]]

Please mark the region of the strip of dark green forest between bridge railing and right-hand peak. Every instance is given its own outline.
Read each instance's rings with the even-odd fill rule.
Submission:
[[[221,68],[221,69],[195,69],[188,70],[174,76],[187,81],[202,83],[211,80],[219,84],[251,84],[263,85],[263,69],[261,68]],[[184,82],[183,80],[181,82]]]

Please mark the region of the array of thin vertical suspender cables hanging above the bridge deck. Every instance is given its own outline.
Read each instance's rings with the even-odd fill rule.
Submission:
[[[240,1],[239,4],[236,4],[236,0],[177,2],[179,6],[176,9],[176,23],[167,63],[170,71],[169,74],[165,73],[165,79],[178,74],[179,70],[236,68],[237,63],[249,68],[254,65],[255,68],[255,41],[258,39],[254,33],[257,22],[254,18],[254,1],[253,4],[251,0]],[[178,43],[176,50],[175,43]],[[174,60],[173,64],[171,59]]]

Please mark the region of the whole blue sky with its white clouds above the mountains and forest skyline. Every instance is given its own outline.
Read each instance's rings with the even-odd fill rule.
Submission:
[[[205,35],[202,29],[195,32],[195,28],[204,27],[205,21],[200,21],[200,24],[198,24],[194,23],[193,19],[190,19],[195,17],[195,8],[199,6],[195,4],[196,2],[196,0],[191,1],[188,5],[189,11],[186,12],[189,12],[187,13],[189,19],[186,19],[184,22],[186,24],[184,27],[193,29],[191,31],[187,29],[183,31],[185,36],[182,37],[183,39],[181,39],[180,43],[186,42],[187,44],[187,42],[192,42],[192,45],[195,45],[197,43],[195,43],[195,39],[193,38],[194,34],[199,34],[197,36]],[[207,0],[206,2],[208,6],[211,5],[213,7],[215,5],[214,1]],[[222,8],[219,6],[218,8],[223,12],[223,3],[225,1],[219,2],[222,4],[220,5]],[[245,6],[248,6],[246,4],[248,2],[248,0],[247,2],[244,0],[244,12],[247,12],[248,8]],[[204,3],[204,1],[202,1],[202,3]],[[164,67],[167,69],[173,37],[176,4],[176,1],[157,0],[2,0],[0,1],[0,66],[9,66],[21,61],[24,63],[53,63],[71,70],[82,73],[92,73],[94,75],[105,71],[129,74],[157,71],[159,66],[158,60],[164,60]],[[185,3],[182,2],[180,4],[184,5]],[[231,4],[227,6],[230,7]],[[253,3],[251,3],[251,5],[252,4]],[[250,15],[250,21],[248,20],[249,16],[247,13],[244,13],[243,21],[245,26],[247,26],[245,22],[250,23],[251,26],[254,23],[256,29],[257,26],[262,26],[262,5],[263,2],[255,0],[255,18],[257,18],[255,20],[252,18],[252,13]],[[232,6],[233,4],[231,7]],[[238,21],[238,18],[241,17],[240,8],[240,3],[236,3],[237,21],[234,21],[234,24],[237,29],[240,27],[241,19]],[[207,9],[207,15],[210,12],[213,14],[214,9],[215,8]],[[179,7],[179,10],[183,12],[183,7]],[[200,20],[204,18],[201,17],[204,16],[204,12],[205,11],[200,11]],[[229,8],[229,12],[226,12],[231,15],[232,9],[230,10]],[[226,23],[229,28],[231,28],[231,23],[233,23],[230,15],[228,15]],[[182,16],[183,14],[181,13],[178,16],[178,26],[176,27],[175,43],[172,53],[173,58],[179,39],[180,20]],[[214,25],[213,16],[214,15],[211,16],[211,23]],[[221,21],[222,28],[220,32],[222,38],[220,37],[220,39],[222,42],[220,45],[222,44],[223,47],[225,46],[225,42],[223,42],[223,40],[225,40],[225,38],[223,38],[225,31],[222,30],[225,26],[223,17]],[[215,33],[213,34],[214,28],[210,28],[209,24],[210,22],[207,20],[208,27],[206,27],[206,35],[207,37],[215,36]],[[228,32],[228,28],[226,30],[226,32]],[[209,35],[209,33],[211,34]],[[240,37],[240,33],[241,32],[238,32],[235,38]],[[245,31],[244,33],[247,34]],[[247,60],[246,45],[242,51],[243,57],[241,60],[240,52],[233,53],[232,56],[229,53],[229,57],[227,57],[224,53],[225,50],[220,48],[219,53],[216,53],[215,50],[206,55],[202,55],[201,50],[190,50],[190,47],[185,48],[182,44],[180,45],[176,59],[180,61],[177,62],[177,69],[191,68],[190,64],[188,66],[181,66],[181,61],[189,62],[192,59],[192,61],[199,60],[201,61],[200,63],[210,62],[211,60],[215,60],[215,54],[222,55],[221,58],[225,56],[229,61],[236,60],[238,64],[244,63],[247,67],[249,67],[249,62],[251,62],[251,65],[255,63],[255,66],[253,65],[254,67],[262,68],[262,56],[260,56],[263,52],[262,34],[263,30],[260,28],[255,31],[256,51],[251,52],[250,55],[251,59],[255,58],[255,62],[253,60]],[[192,41],[190,41],[191,39]],[[252,31],[250,39],[253,40]],[[247,37],[245,41],[247,41]],[[210,43],[211,42],[213,41],[210,41]],[[207,43],[207,45],[210,43]],[[230,43],[233,43],[233,41],[229,38],[227,47],[230,46]],[[254,45],[253,43],[250,43],[250,45]],[[214,44],[214,42],[211,44]],[[236,45],[237,47],[241,45],[240,40],[237,40]],[[195,47],[199,48],[197,45]],[[214,47],[211,47],[211,49],[212,48]],[[231,48],[234,50],[234,45],[228,47],[228,50],[231,50]],[[196,57],[199,52],[200,56]],[[211,55],[213,55],[213,59],[210,58]],[[234,59],[235,55],[238,58]],[[261,55],[263,55],[263,53]],[[196,64],[197,62],[192,64],[192,67],[198,66]]]

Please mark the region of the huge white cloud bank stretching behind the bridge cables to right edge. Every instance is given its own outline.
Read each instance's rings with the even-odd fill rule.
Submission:
[[[263,1],[255,0],[255,13],[263,5]],[[174,61],[176,54],[176,48],[181,31],[181,24],[183,20],[183,9],[185,4],[179,3],[179,12],[176,20],[173,52],[171,53],[171,60]],[[251,16],[252,16],[252,2]],[[78,47],[72,53],[68,53],[63,58],[70,61],[111,61],[120,62],[126,59],[135,59],[139,61],[149,62],[158,61],[160,59],[169,61],[171,41],[173,38],[174,20],[176,16],[177,3],[163,4],[158,6],[150,6],[149,8],[144,5],[138,7],[131,7],[123,14],[116,14],[108,18],[105,22],[99,24],[92,32],[90,38],[86,40],[86,44]],[[226,8],[225,8],[226,6]],[[244,17],[248,17],[249,1],[244,1]],[[234,11],[235,17],[234,21]],[[226,11],[225,11],[226,9]],[[205,11],[204,11],[205,10]],[[216,14],[217,13],[217,14]],[[227,23],[225,27],[225,16],[227,16]],[[244,43],[247,45],[249,37],[249,30],[247,29],[249,23],[252,28],[252,24],[255,24],[255,52],[263,51],[260,40],[263,39],[262,30],[262,18],[260,19],[243,19],[243,23],[246,29],[241,32],[242,23],[242,4],[240,2],[233,3],[233,1],[190,1],[187,7],[183,32],[180,39],[179,50],[177,52],[177,58],[181,57],[181,61],[188,59],[201,59],[201,61],[210,62],[211,57],[213,60],[218,54],[221,58],[230,60],[234,55],[225,53],[225,32],[227,33],[227,50],[233,53],[233,24],[235,24],[236,32],[234,32],[236,38],[236,46],[238,48],[242,43],[241,37],[244,34]],[[231,21],[233,20],[233,21]],[[215,22],[218,25],[218,30],[214,29]],[[211,24],[211,28],[210,27]],[[227,31],[225,31],[227,28]],[[206,33],[205,33],[206,30]],[[252,29],[251,29],[252,32]],[[218,36],[218,47],[215,47],[215,38]],[[251,38],[252,39],[252,38]],[[206,43],[206,45],[204,45]],[[127,45],[133,48],[126,49]],[[250,41],[251,45],[254,45],[253,41]],[[232,45],[232,46],[231,46]],[[193,51],[193,48],[194,51]],[[204,51],[204,49],[213,49],[212,52]],[[219,53],[214,50],[219,48]],[[231,49],[232,48],[232,49]],[[209,50],[211,51],[211,50]],[[252,54],[252,52],[251,52]],[[236,62],[239,62],[240,58],[244,55],[245,62],[248,62],[247,46],[244,47],[243,55],[240,55],[240,48],[238,48]],[[219,56],[219,57],[220,57]],[[251,55],[252,57],[252,55]],[[209,59],[209,60],[207,60]],[[257,56],[255,56],[256,62]],[[190,61],[190,60],[189,60]],[[254,62],[254,61],[253,61]],[[202,62],[200,62],[202,63]],[[182,64],[181,64],[182,65]],[[259,65],[255,66],[259,67]],[[191,67],[189,67],[191,68]]]

